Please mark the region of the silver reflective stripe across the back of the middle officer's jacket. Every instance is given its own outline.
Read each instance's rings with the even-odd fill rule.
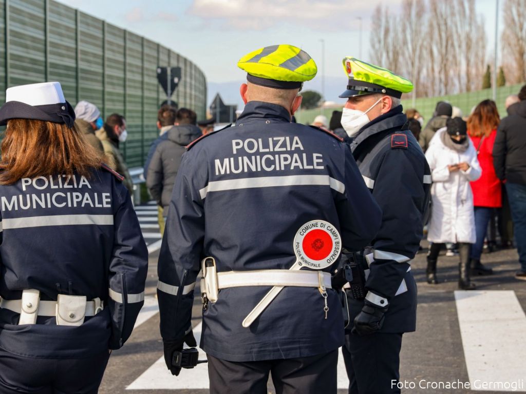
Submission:
[[[320,185],[330,186],[340,193],[345,192],[345,185],[329,175],[286,175],[284,177],[259,177],[259,178],[240,178],[228,179],[224,181],[212,181],[207,186],[199,190],[201,199],[204,199],[209,192],[218,192],[234,189],[250,188],[271,188],[275,186],[300,186],[300,185]]]

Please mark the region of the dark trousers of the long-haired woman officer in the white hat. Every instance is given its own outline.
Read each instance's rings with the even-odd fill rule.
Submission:
[[[96,394],[109,354],[81,359],[18,356],[0,349],[2,394]]]

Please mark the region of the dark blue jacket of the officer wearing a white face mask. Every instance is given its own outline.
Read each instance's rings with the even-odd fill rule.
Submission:
[[[369,122],[350,143],[383,213],[380,231],[370,245],[374,262],[366,289],[389,305],[381,329],[385,333],[416,329],[417,287],[410,262],[422,239],[431,186],[429,165],[418,141],[404,127],[406,121],[398,106]],[[363,302],[350,296],[348,300],[352,321]]]

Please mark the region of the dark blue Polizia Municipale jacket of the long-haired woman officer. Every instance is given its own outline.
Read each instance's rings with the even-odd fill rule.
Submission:
[[[125,186],[103,169],[88,178],[23,178],[0,185],[0,205],[3,299],[37,289],[41,300],[66,294],[104,302],[102,312],[78,327],[57,326],[54,316],[18,325],[18,313],[0,309],[0,348],[38,358],[81,358],[122,346],[144,303],[148,266]]]

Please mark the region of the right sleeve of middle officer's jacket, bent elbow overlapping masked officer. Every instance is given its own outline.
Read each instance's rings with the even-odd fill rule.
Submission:
[[[342,144],[342,147],[345,151],[342,180],[345,191],[338,194],[336,209],[343,246],[349,251],[359,251],[370,244],[380,229],[382,212],[363,181],[349,146]]]

